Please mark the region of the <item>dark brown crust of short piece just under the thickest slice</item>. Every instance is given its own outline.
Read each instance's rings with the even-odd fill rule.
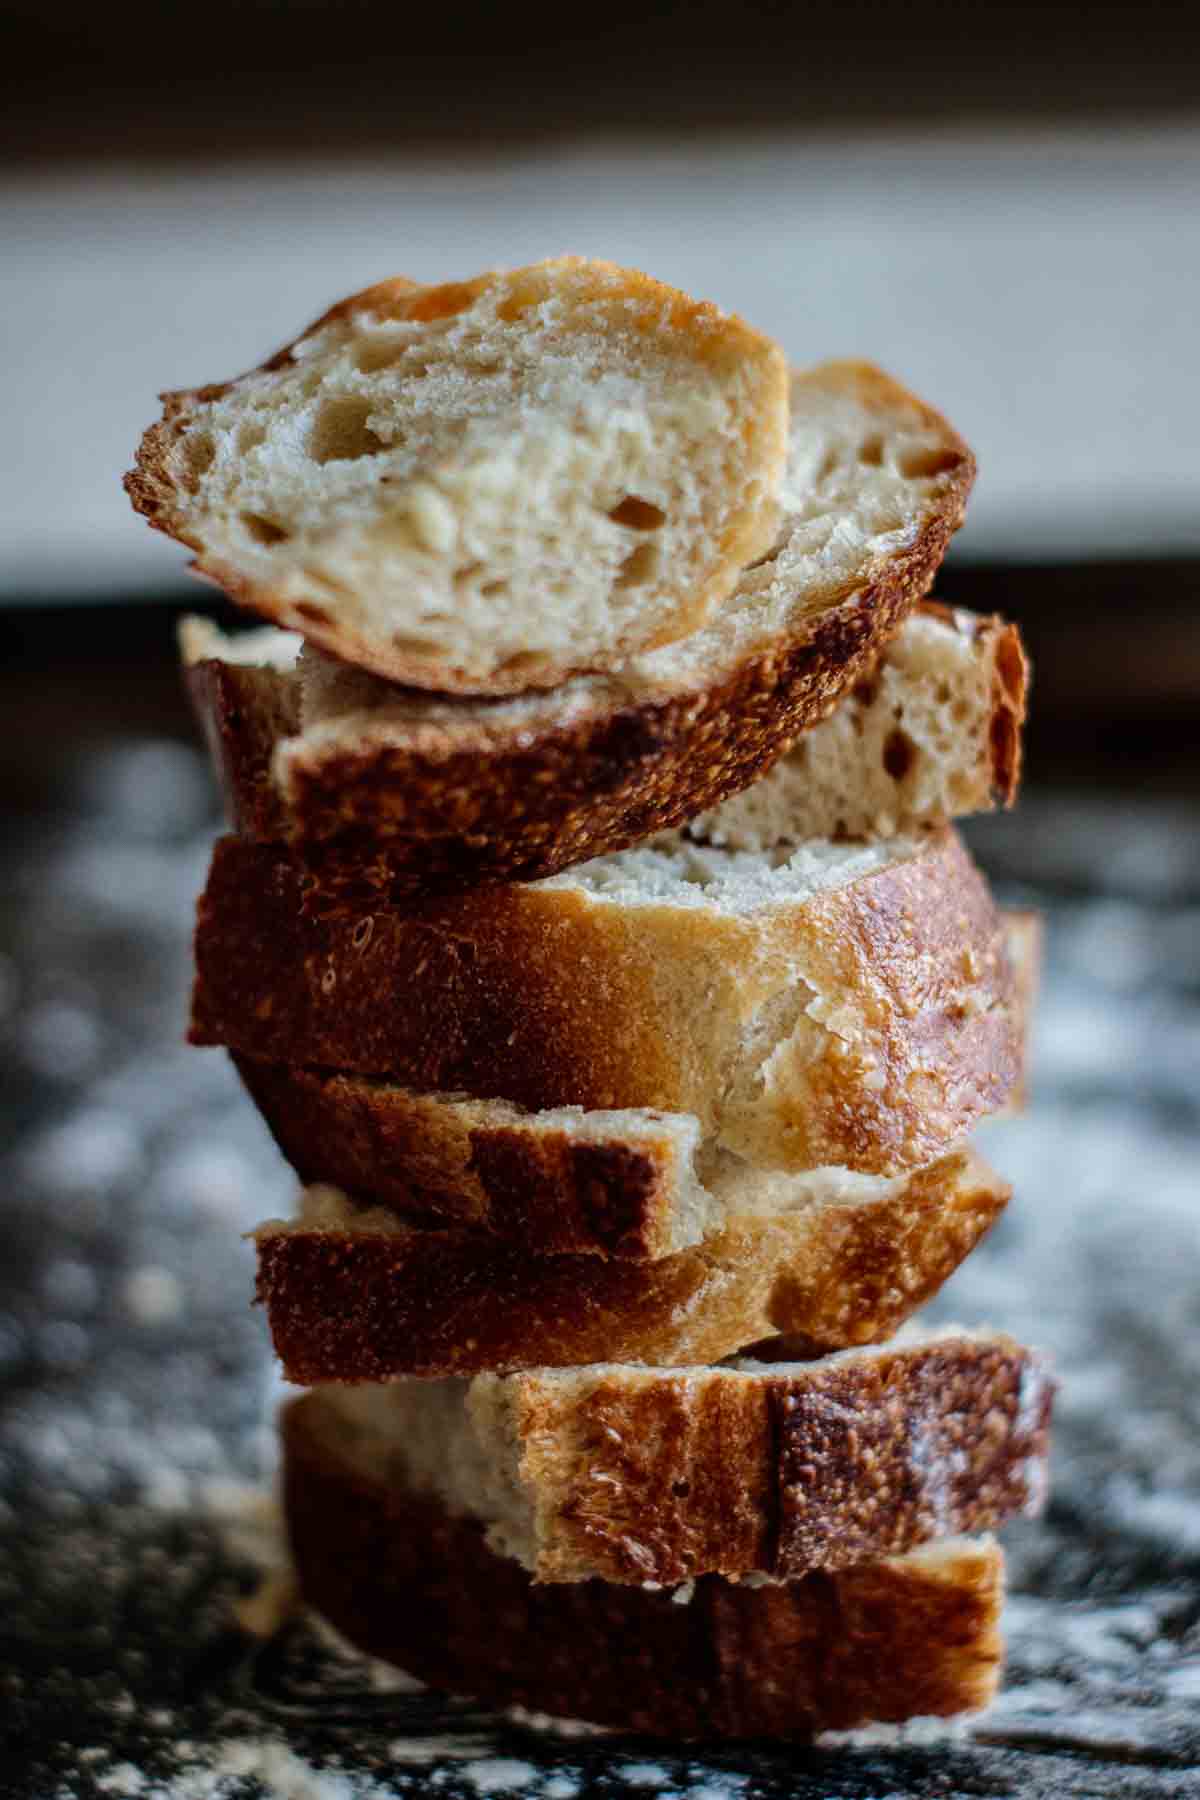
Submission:
[[[631,1256],[680,1246],[689,1170],[678,1139],[466,1127],[408,1089],[234,1057],[300,1181],[331,1183],[410,1220],[473,1226],[540,1255]]]

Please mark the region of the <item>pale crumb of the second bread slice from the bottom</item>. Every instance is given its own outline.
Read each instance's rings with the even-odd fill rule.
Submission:
[[[730,1357],[727,1363],[684,1368],[637,1368],[624,1363],[590,1363],[583,1368],[534,1368],[529,1375],[565,1400],[585,1399],[596,1386],[671,1386],[693,1390],[718,1381],[804,1381],[813,1370],[918,1350],[932,1343],[1011,1345],[990,1330],[959,1325],[925,1328],[909,1323],[887,1345],[837,1350],[819,1363],[761,1363]],[[322,1388],[338,1418],[356,1435],[356,1460],[376,1474],[401,1481],[414,1492],[434,1494],[446,1512],[479,1519],[488,1543],[527,1570],[536,1570],[547,1537],[540,1517],[538,1490],[522,1478],[524,1442],[522,1375],[475,1375],[471,1381],[394,1381],[356,1388]],[[587,1444],[572,1436],[576,1415],[558,1415],[561,1454],[572,1462]]]

